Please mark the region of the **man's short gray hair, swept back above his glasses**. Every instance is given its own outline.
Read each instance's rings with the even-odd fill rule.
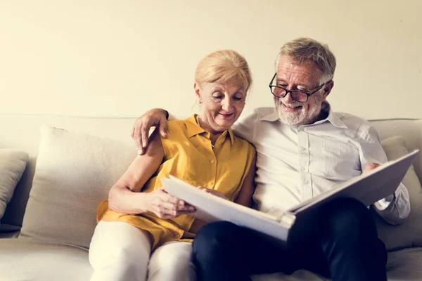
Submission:
[[[330,81],[334,77],[335,56],[327,44],[321,44],[319,41],[304,37],[287,42],[280,48],[280,53],[276,57],[276,69],[281,55],[287,55],[299,64],[307,61],[314,63],[323,73],[321,83]]]

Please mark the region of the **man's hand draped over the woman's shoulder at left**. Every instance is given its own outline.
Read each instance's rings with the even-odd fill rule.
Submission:
[[[148,110],[144,115],[135,120],[130,136],[135,140],[138,154],[143,155],[148,146],[148,133],[151,127],[159,126],[160,135],[167,138],[166,111],[160,108]]]

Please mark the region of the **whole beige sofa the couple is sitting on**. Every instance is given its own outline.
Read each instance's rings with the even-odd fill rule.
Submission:
[[[0,280],[89,280],[87,247],[95,227],[95,208],[136,155],[129,138],[133,120],[0,115],[0,149],[14,148],[30,155],[1,219]],[[371,123],[390,159],[422,148],[422,121]],[[43,124],[69,132],[48,126],[40,130]],[[375,216],[379,235],[390,250],[389,280],[422,280],[421,177],[422,155],[418,155],[404,179],[412,208],[404,224],[388,226]],[[254,280],[324,279],[300,270]]]

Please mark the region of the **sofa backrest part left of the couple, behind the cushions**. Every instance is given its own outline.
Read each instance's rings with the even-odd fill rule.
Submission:
[[[37,161],[40,127],[43,124],[75,133],[111,138],[132,145],[130,130],[136,118],[90,118],[57,115],[0,115],[0,148],[14,148],[29,153],[30,160],[15,188],[1,224],[22,226]],[[133,143],[134,151],[136,147]]]

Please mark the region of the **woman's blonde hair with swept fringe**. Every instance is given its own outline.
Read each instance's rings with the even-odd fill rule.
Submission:
[[[249,65],[245,58],[233,50],[221,50],[205,56],[195,70],[195,81],[198,84],[226,83],[234,81],[248,91],[252,84]]]

